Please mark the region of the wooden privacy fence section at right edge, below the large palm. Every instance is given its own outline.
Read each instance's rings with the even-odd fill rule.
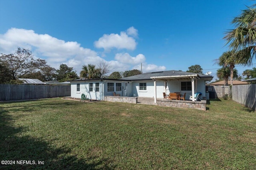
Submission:
[[[232,100],[256,110],[256,84],[232,86]]]

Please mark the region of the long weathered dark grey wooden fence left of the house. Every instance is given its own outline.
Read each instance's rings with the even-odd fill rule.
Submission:
[[[0,101],[71,96],[70,85],[0,84]]]

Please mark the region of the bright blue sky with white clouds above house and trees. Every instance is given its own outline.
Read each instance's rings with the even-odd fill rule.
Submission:
[[[250,0],[0,0],[0,53],[29,49],[58,69],[104,61],[114,71],[203,72],[228,51],[231,21]],[[256,67],[236,66],[238,74]],[[111,73],[110,72],[110,73]]]

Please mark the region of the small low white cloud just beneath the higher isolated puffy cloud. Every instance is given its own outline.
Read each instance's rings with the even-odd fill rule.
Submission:
[[[139,54],[136,57],[130,56],[128,53],[117,53],[115,59],[120,63],[138,64],[146,60],[143,54]]]

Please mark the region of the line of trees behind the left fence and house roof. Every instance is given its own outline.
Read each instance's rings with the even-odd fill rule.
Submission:
[[[1,54],[0,56],[0,84],[22,84],[18,78],[34,78],[42,82],[58,81],[66,82],[79,78],[123,78],[140,74],[139,70],[127,70],[124,72],[113,72],[111,66],[105,61],[100,61],[98,65],[88,64],[82,66],[80,76],[66,64],[60,64],[56,70],[49,66],[44,59],[34,59],[28,49],[18,49],[13,54]],[[117,74],[118,73],[118,74]]]

